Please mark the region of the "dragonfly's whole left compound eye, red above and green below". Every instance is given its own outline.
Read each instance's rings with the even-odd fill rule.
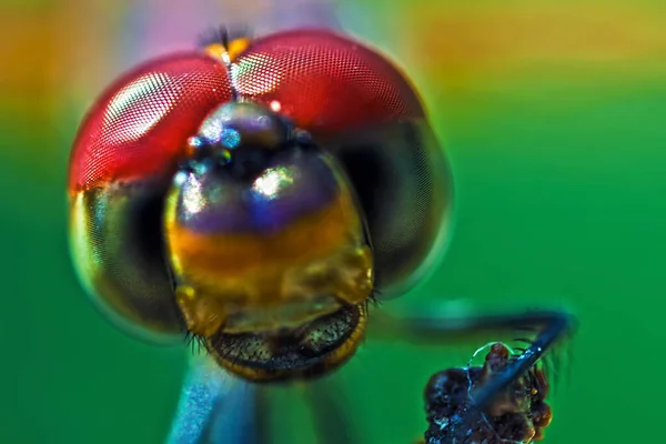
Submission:
[[[172,54],[120,78],[81,124],[69,170],[72,256],[92,301],[133,336],[182,342],[163,200],[188,138],[231,98],[224,65]]]

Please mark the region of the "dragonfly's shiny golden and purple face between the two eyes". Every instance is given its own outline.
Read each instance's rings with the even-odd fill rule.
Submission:
[[[244,138],[259,120],[265,137],[253,128]],[[373,291],[372,251],[346,178],[330,154],[289,132],[266,108],[223,107],[191,141],[192,159],[167,198],[168,260],[188,330],[253,380],[342,363]]]

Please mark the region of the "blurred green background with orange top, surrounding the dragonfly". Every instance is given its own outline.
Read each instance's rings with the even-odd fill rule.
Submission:
[[[0,443],[167,434],[186,352],[125,337],[87,301],[67,250],[64,178],[85,108],[158,48],[133,42],[178,34],[173,23],[154,28],[169,17],[196,29],[206,13],[193,4],[0,2]],[[432,280],[385,306],[451,297],[568,306],[581,325],[546,442],[658,441],[666,7],[364,0],[341,17],[414,79],[454,164],[451,248]],[[366,442],[413,443],[426,426],[428,375],[474,350],[370,337],[333,383]]]

